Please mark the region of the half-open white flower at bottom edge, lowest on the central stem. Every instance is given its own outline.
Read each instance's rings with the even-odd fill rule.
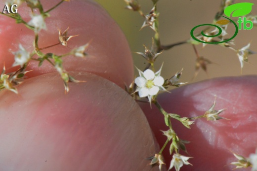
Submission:
[[[190,159],[192,157],[186,157],[186,156],[182,156],[181,154],[173,154],[172,156],[172,160],[171,160],[171,165],[168,171],[170,171],[173,167],[175,167],[176,171],[179,171],[180,168],[183,165],[192,165],[190,164],[187,160]]]

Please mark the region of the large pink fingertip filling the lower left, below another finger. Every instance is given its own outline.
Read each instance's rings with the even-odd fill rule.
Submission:
[[[56,73],[27,79],[18,96],[0,92],[0,170],[150,171],[155,144],[140,107],[106,79],[74,75],[87,82],[68,95]]]

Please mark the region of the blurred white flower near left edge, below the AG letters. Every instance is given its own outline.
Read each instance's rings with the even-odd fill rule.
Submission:
[[[30,60],[30,53],[27,52],[26,49],[24,49],[21,44],[19,44],[19,48],[20,49],[17,52],[13,52],[14,60],[15,60],[15,62],[12,65],[13,67],[19,66],[19,65],[23,67],[23,65]]]

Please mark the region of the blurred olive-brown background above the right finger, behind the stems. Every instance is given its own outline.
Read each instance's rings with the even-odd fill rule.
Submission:
[[[132,52],[144,53],[145,48],[142,46],[143,44],[151,48],[154,31],[149,27],[139,31],[144,18],[138,12],[125,9],[126,3],[124,0],[95,1],[99,2],[119,24],[129,41]],[[141,4],[141,10],[144,14],[149,13],[153,7],[152,1],[138,1]],[[220,2],[221,0],[159,0],[157,7],[160,12],[159,30],[162,44],[167,45],[187,40],[191,37],[190,31],[193,27],[200,24],[212,24],[214,16],[219,10]],[[235,3],[238,2],[244,1],[235,0]],[[254,0],[248,0],[247,2],[255,3]],[[257,4],[253,5],[252,15],[257,15]],[[234,30],[233,25],[230,24],[227,31],[228,36],[231,37],[234,34]],[[197,31],[194,33],[197,33]],[[257,52],[257,27],[254,27],[250,31],[239,30],[237,36],[234,38],[235,45],[233,47],[240,49],[249,42],[251,42],[250,49]],[[244,64],[241,74],[240,62],[236,52],[233,50],[214,44],[208,44],[203,48],[202,43],[196,45],[196,48],[200,56],[216,63],[208,65],[208,74],[200,69],[197,77],[193,79],[196,54],[191,44],[175,46],[170,50],[164,51],[155,63],[156,70],[159,70],[164,62],[162,76],[167,79],[183,68],[180,81],[189,81],[190,83],[214,77],[257,74],[257,54],[249,56],[249,64]],[[146,66],[145,59],[135,53],[132,53],[132,55],[134,65],[143,70]],[[136,70],[135,74],[138,75]]]

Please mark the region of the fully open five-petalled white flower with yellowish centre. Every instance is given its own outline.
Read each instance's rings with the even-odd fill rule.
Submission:
[[[151,103],[153,96],[157,95],[160,90],[165,90],[164,78],[160,76],[161,69],[162,67],[156,73],[151,69],[146,69],[144,72],[137,69],[140,76],[135,79],[135,84],[138,86],[136,92],[140,98],[148,97]]]

